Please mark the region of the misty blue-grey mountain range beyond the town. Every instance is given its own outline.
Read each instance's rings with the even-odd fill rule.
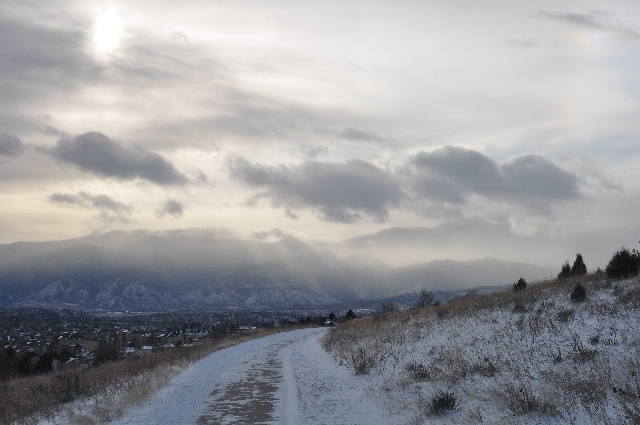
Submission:
[[[338,256],[293,237],[242,240],[224,230],[113,231],[0,245],[0,307],[339,306],[425,288],[456,290],[552,274],[545,267],[492,258],[393,268],[366,253]]]

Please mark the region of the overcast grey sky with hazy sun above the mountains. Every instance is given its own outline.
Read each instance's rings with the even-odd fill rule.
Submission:
[[[637,1],[0,0],[0,243],[423,227],[425,261],[604,267],[638,69]]]

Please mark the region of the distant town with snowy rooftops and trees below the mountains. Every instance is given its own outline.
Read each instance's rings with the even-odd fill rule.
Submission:
[[[23,373],[65,370],[209,338],[293,325],[332,326],[324,310],[210,312],[94,312],[23,307],[0,310],[5,353],[20,359]],[[42,369],[42,370],[40,370]]]

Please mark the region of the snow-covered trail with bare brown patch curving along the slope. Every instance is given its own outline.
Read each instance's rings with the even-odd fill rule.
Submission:
[[[322,329],[254,339],[192,364],[114,424],[385,423],[362,380],[318,343]]]

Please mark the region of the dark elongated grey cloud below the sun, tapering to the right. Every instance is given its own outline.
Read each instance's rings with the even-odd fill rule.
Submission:
[[[125,147],[98,132],[62,138],[49,153],[100,176],[119,180],[140,178],[162,186],[187,183],[187,178],[157,153],[138,146]]]

